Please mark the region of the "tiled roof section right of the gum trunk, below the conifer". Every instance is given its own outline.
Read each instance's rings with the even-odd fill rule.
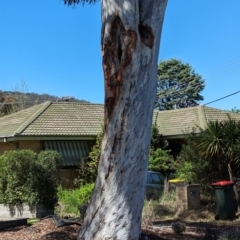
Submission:
[[[240,114],[200,105],[191,108],[159,111],[157,126],[163,136],[176,137],[184,135],[184,133],[197,132],[197,126],[205,128],[208,121],[228,120],[228,116],[240,121]]]

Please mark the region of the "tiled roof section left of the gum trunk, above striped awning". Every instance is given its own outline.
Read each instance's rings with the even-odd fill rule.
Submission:
[[[103,105],[46,102],[0,118],[0,137],[95,136],[101,131]]]

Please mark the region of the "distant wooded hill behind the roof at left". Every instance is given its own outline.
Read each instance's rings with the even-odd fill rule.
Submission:
[[[17,112],[21,109],[34,106],[46,101],[52,102],[84,102],[90,103],[86,100],[79,100],[71,96],[57,97],[49,94],[38,93],[21,93],[13,91],[1,91],[0,90],[0,116]]]

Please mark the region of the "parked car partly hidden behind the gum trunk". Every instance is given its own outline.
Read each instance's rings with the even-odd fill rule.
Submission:
[[[164,190],[165,176],[159,172],[148,171],[146,198],[159,198]]]

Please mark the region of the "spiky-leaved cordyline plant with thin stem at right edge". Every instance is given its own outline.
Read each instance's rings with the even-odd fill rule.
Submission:
[[[218,158],[224,162],[229,179],[234,181],[232,164],[240,163],[240,122],[229,118],[225,121],[210,121],[196,139],[196,149],[205,159]],[[234,186],[239,201],[238,191]]]

